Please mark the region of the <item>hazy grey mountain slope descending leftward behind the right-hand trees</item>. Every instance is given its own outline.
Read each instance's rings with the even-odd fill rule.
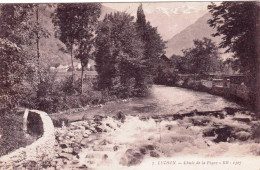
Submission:
[[[206,13],[200,17],[195,23],[185,28],[180,33],[174,35],[168,40],[166,46],[166,55],[171,57],[172,54],[182,54],[181,50],[193,46],[194,39],[202,39],[203,37],[211,38],[217,45],[221,42],[221,37],[212,37],[215,33],[212,27],[209,27],[207,21],[211,18],[210,13]]]

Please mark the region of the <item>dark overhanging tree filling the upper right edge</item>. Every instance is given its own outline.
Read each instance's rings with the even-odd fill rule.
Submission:
[[[227,48],[226,52],[233,52],[234,58],[240,61],[240,70],[251,80],[249,87],[254,98],[259,96],[256,94],[259,84],[259,8],[259,3],[254,1],[212,3],[208,6],[212,15],[208,23],[217,31],[213,36],[222,36],[220,47]],[[259,103],[255,105],[259,106]]]

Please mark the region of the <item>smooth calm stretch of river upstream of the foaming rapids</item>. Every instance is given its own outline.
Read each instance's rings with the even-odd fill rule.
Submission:
[[[125,114],[176,114],[198,111],[216,111],[225,107],[240,107],[220,96],[179,87],[154,85],[151,95],[131,101],[111,103],[102,108],[91,109],[91,114],[114,114],[119,110]]]

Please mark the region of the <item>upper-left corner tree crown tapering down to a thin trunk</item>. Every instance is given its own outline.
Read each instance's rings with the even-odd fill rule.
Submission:
[[[48,31],[39,22],[39,10],[42,11],[47,6],[43,4],[5,4],[1,7],[0,36],[16,43],[22,47],[22,51],[27,52],[31,61],[37,63],[37,76],[40,75],[39,41],[42,37],[49,36]]]

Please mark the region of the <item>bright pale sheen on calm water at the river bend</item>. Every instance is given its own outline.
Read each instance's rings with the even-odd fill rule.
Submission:
[[[240,107],[222,97],[205,92],[183,89],[179,87],[153,86],[152,96],[164,112],[184,113],[198,111],[222,110],[225,107]]]

